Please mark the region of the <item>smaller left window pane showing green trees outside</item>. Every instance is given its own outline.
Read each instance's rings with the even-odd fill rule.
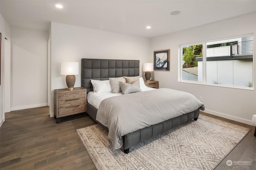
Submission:
[[[202,47],[202,44],[182,47],[182,80],[203,80]]]

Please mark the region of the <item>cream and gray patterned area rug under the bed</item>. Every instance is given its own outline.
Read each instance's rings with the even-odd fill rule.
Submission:
[[[100,125],[77,129],[98,170],[212,170],[250,131],[200,115],[130,148],[113,150]]]

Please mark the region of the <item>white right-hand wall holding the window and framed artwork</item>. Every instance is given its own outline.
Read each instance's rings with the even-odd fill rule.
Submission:
[[[237,24],[239,23],[239,24]],[[170,71],[154,71],[160,88],[173,88],[203,98],[205,112],[252,124],[256,114],[256,90],[242,90],[218,86],[178,82],[178,47],[180,44],[214,41],[225,37],[254,33],[254,56],[256,54],[256,13],[218,21],[176,33],[151,39],[151,51],[170,49]],[[151,57],[151,62],[153,57]],[[254,57],[254,89],[256,89]]]

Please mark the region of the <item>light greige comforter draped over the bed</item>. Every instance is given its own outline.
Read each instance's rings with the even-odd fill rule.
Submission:
[[[114,149],[122,147],[122,136],[138,129],[189,113],[204,104],[190,93],[160,88],[104,99],[96,120],[108,127]]]

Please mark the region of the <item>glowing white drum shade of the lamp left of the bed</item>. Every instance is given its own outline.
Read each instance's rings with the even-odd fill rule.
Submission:
[[[60,74],[62,75],[79,74],[79,62],[62,62],[60,65]]]

